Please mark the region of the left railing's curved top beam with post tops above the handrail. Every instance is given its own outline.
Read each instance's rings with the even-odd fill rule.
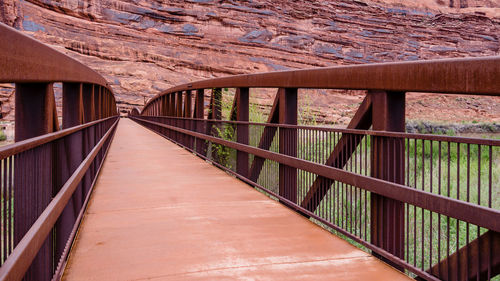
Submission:
[[[88,66],[0,23],[0,83],[15,83],[15,141],[117,115],[106,79]],[[62,124],[54,96],[62,83]]]

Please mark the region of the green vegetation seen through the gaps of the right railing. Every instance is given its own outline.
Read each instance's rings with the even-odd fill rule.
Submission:
[[[223,116],[229,116],[231,107],[232,97],[228,91],[223,91]],[[313,114],[311,102],[305,99],[300,108],[299,123],[315,125],[317,119],[315,116],[311,117]],[[250,119],[251,121],[265,122],[267,116],[255,104],[251,104]],[[426,127],[423,124],[418,126],[420,132],[425,132]],[[270,151],[279,152],[278,130],[271,141]],[[216,132],[223,139],[235,141],[235,127],[232,125],[217,127]],[[250,126],[251,146],[259,145],[263,132],[264,126]],[[432,133],[454,136],[455,130],[445,128]],[[297,157],[323,164],[340,137],[341,134],[332,132],[298,130]],[[353,156],[343,169],[357,174],[369,175],[373,137],[360,135],[358,138],[362,138],[360,145],[355,149]],[[496,136],[496,138],[499,137]],[[500,186],[498,184],[500,182],[500,147],[421,139],[405,139],[402,144],[404,149],[404,181],[407,186],[500,209]],[[215,148],[219,163],[224,163],[226,167],[234,169],[236,151],[218,145],[215,145]],[[250,163],[252,163],[254,157],[250,155],[249,158]],[[257,183],[278,193],[278,174],[279,164],[265,160]],[[312,173],[303,170],[297,171],[298,202],[302,202],[315,179],[316,175]],[[346,184],[335,183],[320,202],[315,213],[363,240],[370,241],[370,197],[370,192]],[[405,204],[404,216],[404,259],[423,269],[436,264],[446,255],[453,254],[457,249],[464,247],[486,231],[486,229],[475,225],[431,213],[408,204]],[[364,249],[334,229],[319,221],[315,222]],[[440,248],[439,252],[438,247]],[[432,258],[430,258],[431,251]]]

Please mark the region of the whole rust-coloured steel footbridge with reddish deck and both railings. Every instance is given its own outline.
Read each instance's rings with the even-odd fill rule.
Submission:
[[[214,78],[120,118],[89,67],[0,39],[2,281],[499,278],[500,140],[406,133],[405,97],[499,96],[500,57]],[[311,89],[366,96],[347,128],[299,125]]]

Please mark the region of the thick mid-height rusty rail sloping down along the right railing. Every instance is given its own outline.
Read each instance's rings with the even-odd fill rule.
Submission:
[[[213,137],[203,133],[197,133],[187,129],[165,125],[159,122],[145,120],[140,116],[134,116],[133,118],[140,119],[142,122],[154,124],[156,126],[163,127],[182,134],[200,138],[205,141],[214,142],[220,145],[227,146],[229,148],[247,152],[258,157],[276,161],[278,163],[308,171],[325,178],[344,182],[352,186],[360,187],[362,189],[375,192],[392,199],[396,199],[415,205],[417,207],[424,208],[426,210],[430,210],[432,212],[443,214],[465,222],[474,223],[478,226],[500,232],[500,220],[498,220],[498,218],[500,217],[499,210],[486,208],[438,194],[432,194],[423,190],[409,188],[405,185],[385,181],[382,179],[359,175],[339,168],[314,163],[273,151],[260,149],[250,145],[224,140],[222,138]]]

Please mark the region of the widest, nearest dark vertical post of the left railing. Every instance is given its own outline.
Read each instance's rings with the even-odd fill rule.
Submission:
[[[16,83],[15,108],[16,142],[58,129],[52,84]],[[17,245],[52,199],[52,146],[16,155],[14,171],[14,245]],[[50,280],[52,249],[52,235],[49,235],[24,280]]]

